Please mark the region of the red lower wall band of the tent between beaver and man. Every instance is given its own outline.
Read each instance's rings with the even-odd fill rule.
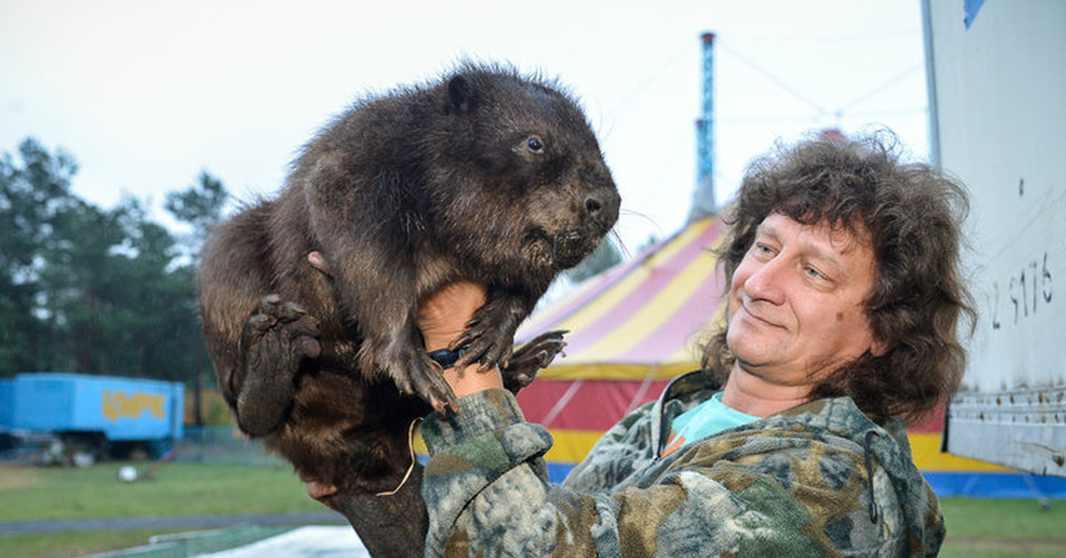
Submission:
[[[518,404],[526,419],[550,428],[605,431],[631,408],[658,398],[668,382],[584,380],[581,387],[570,394],[565,412],[553,413],[551,424],[545,424],[544,419],[574,383],[537,380],[519,392]]]

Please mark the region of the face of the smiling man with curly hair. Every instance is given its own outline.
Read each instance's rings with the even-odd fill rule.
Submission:
[[[737,366],[778,385],[812,384],[874,342],[863,303],[873,253],[844,230],[771,213],[733,272],[726,340]]]

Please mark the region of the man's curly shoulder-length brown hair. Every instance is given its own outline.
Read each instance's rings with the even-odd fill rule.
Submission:
[[[960,320],[971,333],[976,320],[959,262],[966,190],[928,164],[901,162],[899,150],[890,132],[778,146],[748,166],[717,251],[731,283],[756,228],[773,212],[869,242],[876,275],[866,315],[875,339],[891,349],[838,368],[810,396],[849,396],[875,420],[915,420],[946,400],[966,367]],[[727,328],[720,322],[702,346],[704,368],[717,374],[733,363]]]

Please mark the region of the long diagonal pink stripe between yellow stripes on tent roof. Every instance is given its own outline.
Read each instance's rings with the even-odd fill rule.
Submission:
[[[718,222],[706,227],[700,232],[698,237],[679,250],[673,257],[651,269],[648,278],[640,288],[630,293],[625,301],[605,312],[596,321],[588,324],[588,326],[574,332],[574,335],[567,339],[569,351],[572,354],[577,354],[596,344],[613,332],[619,323],[625,322],[630,316],[643,308],[648,301],[655,298],[663,287],[674,280],[680,270],[683,270],[693,260],[704,255],[717,238],[720,228]]]

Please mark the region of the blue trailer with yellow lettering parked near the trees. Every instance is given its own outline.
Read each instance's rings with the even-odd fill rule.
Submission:
[[[0,380],[0,434],[45,461],[159,455],[182,437],[183,417],[177,382],[54,372]]]

